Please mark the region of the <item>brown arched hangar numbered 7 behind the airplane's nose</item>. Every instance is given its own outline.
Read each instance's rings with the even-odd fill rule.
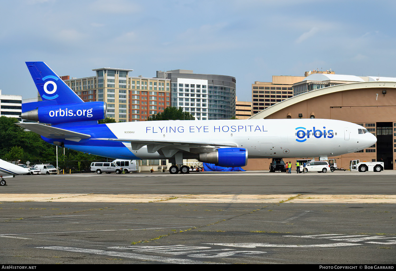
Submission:
[[[362,151],[332,157],[337,158],[337,166],[348,169],[350,160],[383,159],[385,169],[396,169],[396,82],[356,82],[320,88],[293,96],[251,116],[251,119],[259,118],[328,118],[360,124],[377,136],[377,143]],[[295,162],[300,158],[310,157],[283,160],[291,161],[295,170]],[[268,170],[271,161],[272,158],[252,158],[243,168]]]

